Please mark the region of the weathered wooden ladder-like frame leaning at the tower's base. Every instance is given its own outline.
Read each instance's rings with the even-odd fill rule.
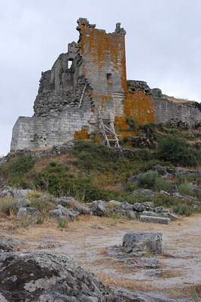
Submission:
[[[98,120],[98,128],[100,134],[104,137],[104,142],[107,146],[111,146],[110,141],[115,142],[115,148],[120,148],[119,138],[115,131],[114,122],[109,114],[109,127],[104,124],[103,116],[99,109],[97,109],[97,120]],[[112,134],[114,138],[109,138],[108,134]]]

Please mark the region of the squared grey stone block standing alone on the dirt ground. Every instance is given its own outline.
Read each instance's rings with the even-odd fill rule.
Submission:
[[[161,254],[162,234],[130,232],[124,235],[122,246],[127,253],[151,252]]]

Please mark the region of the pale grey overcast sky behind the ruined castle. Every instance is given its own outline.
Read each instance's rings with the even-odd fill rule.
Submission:
[[[201,101],[201,0],[1,0],[0,156],[18,116],[31,116],[41,71],[77,40],[86,17],[127,31],[127,77]]]

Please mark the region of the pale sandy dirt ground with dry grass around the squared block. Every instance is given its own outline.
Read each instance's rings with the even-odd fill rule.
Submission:
[[[201,215],[186,217],[169,225],[112,218],[81,217],[65,230],[54,220],[27,229],[12,228],[13,221],[0,220],[0,235],[20,241],[19,250],[54,249],[74,257],[112,286],[165,293],[168,297],[188,296],[201,285]],[[107,248],[122,243],[128,231],[161,232],[164,254],[157,257],[157,268],[135,267],[109,257]],[[150,259],[151,259],[150,255]],[[154,260],[154,259],[153,259]]]

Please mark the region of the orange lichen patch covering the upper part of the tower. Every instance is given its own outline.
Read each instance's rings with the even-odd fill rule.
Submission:
[[[122,89],[126,92],[125,36],[83,26],[77,45],[84,60],[86,75],[92,69],[102,72],[110,66],[111,72],[120,72]],[[89,70],[89,66],[91,66],[91,70]]]

